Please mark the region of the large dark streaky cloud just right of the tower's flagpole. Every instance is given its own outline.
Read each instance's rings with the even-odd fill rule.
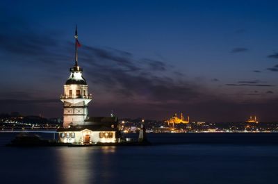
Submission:
[[[147,58],[136,60],[132,54],[123,55],[122,51],[90,46],[83,47],[81,52],[92,83],[122,97],[144,98],[146,103],[190,101],[199,97],[197,85],[157,75],[154,71],[171,74],[164,62]]]

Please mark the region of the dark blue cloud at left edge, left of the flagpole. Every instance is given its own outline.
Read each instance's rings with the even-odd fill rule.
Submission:
[[[60,67],[72,56],[65,51],[68,43],[59,40],[58,35],[58,31],[47,31],[20,18],[0,17],[1,56],[23,67],[53,67],[56,63]]]

